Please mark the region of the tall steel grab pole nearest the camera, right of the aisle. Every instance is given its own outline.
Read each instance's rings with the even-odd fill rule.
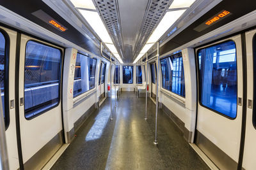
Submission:
[[[159,41],[157,42],[157,75],[156,75],[156,138],[154,144],[157,145],[157,112],[158,112],[158,81],[159,81]]]

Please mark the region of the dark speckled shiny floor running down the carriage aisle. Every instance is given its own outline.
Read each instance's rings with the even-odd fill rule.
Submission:
[[[86,120],[52,169],[209,169],[161,110],[154,145],[156,106],[150,99],[148,120],[145,97],[134,92],[120,94],[113,120],[109,103]]]

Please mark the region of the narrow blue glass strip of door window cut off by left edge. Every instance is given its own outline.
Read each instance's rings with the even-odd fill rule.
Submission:
[[[5,38],[3,34],[0,32],[0,85],[1,85],[1,99],[2,99],[2,105],[3,105],[3,113],[4,113],[4,122],[5,125],[7,125],[7,119],[5,117],[5,108],[4,108],[4,77],[5,77],[5,71],[4,71],[4,65],[5,65]]]

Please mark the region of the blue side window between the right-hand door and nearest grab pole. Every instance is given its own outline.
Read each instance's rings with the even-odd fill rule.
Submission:
[[[181,53],[160,60],[163,89],[185,97],[184,67]]]

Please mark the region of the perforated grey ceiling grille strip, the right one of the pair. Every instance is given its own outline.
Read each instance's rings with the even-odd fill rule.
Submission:
[[[164,12],[170,6],[173,0],[152,0],[150,6],[145,13],[143,24],[141,24],[140,34],[136,40],[136,45],[133,53],[133,60],[140,53],[141,48],[145,45],[148,38],[156,28],[164,15]]]

